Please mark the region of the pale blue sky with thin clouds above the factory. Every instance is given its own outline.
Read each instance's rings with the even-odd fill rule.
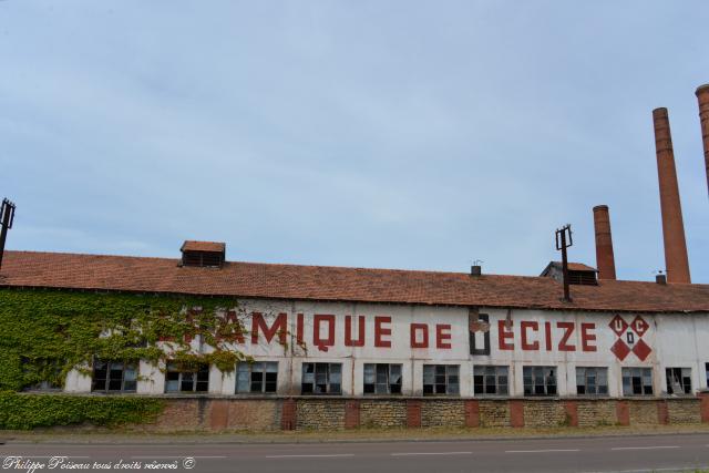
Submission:
[[[0,1],[9,249],[538,275],[665,268],[651,111],[669,110],[709,284],[697,86],[709,2]]]

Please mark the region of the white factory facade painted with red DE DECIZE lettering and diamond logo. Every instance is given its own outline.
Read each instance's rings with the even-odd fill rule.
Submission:
[[[249,333],[245,336],[244,343],[235,345],[234,349],[253,356],[257,361],[277,361],[277,393],[284,395],[301,393],[302,363],[310,361],[341,363],[342,395],[363,395],[366,363],[401,364],[403,395],[423,394],[424,364],[459,366],[458,395],[461,397],[479,395],[474,392],[474,366],[508,367],[511,397],[524,395],[523,368],[535,366],[555,367],[556,394],[562,397],[577,395],[578,367],[607,369],[610,397],[624,394],[623,368],[634,367],[651,369],[655,395],[666,393],[666,368],[689,368],[691,391],[707,389],[709,313],[479,308],[481,319],[477,320],[477,312],[471,315],[464,307],[302,301],[243,301],[239,311],[245,313]],[[276,320],[282,321],[277,317],[285,313],[286,345],[278,341],[277,333],[267,342],[263,329],[258,328],[259,341],[251,343],[250,331],[255,330],[253,312],[264,315],[267,328],[271,328]],[[489,318],[487,346],[485,323],[480,323],[485,316]],[[348,317],[351,323],[349,331],[346,330]],[[363,335],[358,330],[359,317],[364,320]],[[298,343],[299,333],[305,349]],[[348,335],[352,340],[350,343],[346,340]],[[363,346],[357,346],[362,336]],[[476,353],[487,350],[489,353],[471,354],[471,338],[475,340],[475,349],[480,350]],[[198,340],[193,342],[193,347],[199,349]],[[89,392],[91,379],[74,371],[66,379],[65,390]],[[136,392],[164,393],[164,367],[141,362]],[[222,373],[210,367],[208,392],[235,394],[236,373]]]

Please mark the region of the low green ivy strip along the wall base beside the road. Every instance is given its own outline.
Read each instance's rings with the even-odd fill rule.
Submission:
[[[91,423],[115,426],[151,422],[163,411],[164,401],[135,397],[18,394],[0,392],[0,429]]]

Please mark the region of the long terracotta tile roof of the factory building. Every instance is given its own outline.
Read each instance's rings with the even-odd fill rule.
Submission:
[[[323,266],[225,263],[219,268],[179,267],[177,259],[7,251],[0,286],[169,292],[297,300],[427,305],[709,312],[709,285],[658,285],[602,280],[574,286],[559,300],[552,278]]]

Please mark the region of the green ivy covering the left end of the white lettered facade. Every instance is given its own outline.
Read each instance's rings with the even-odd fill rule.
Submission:
[[[244,318],[225,312],[236,307],[227,298],[0,289],[0,391],[62,385],[76,367],[89,374],[94,357],[233,371],[247,359],[233,345],[247,333]],[[192,351],[196,337],[213,351]]]

